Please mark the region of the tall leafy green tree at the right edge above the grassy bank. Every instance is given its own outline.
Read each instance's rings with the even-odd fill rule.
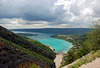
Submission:
[[[88,42],[91,50],[100,49],[100,19],[93,22],[93,30],[88,34]]]

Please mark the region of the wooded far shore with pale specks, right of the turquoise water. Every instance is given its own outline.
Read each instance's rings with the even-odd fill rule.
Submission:
[[[80,46],[87,39],[86,34],[70,34],[70,35],[58,34],[58,35],[53,35],[51,37],[71,42],[73,46]]]

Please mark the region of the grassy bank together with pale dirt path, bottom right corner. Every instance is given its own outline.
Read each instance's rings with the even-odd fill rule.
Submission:
[[[97,60],[98,59],[98,60]],[[94,62],[96,60],[96,62]],[[62,68],[100,68],[100,50],[77,59],[73,63]]]

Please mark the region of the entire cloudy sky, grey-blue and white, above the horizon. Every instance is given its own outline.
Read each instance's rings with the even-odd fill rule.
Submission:
[[[19,28],[89,28],[100,0],[0,0],[0,25]]]

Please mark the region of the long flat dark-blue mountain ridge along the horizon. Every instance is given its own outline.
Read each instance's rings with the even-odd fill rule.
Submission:
[[[39,32],[51,34],[85,34],[91,28],[43,28],[43,29],[11,29],[11,31]]]

